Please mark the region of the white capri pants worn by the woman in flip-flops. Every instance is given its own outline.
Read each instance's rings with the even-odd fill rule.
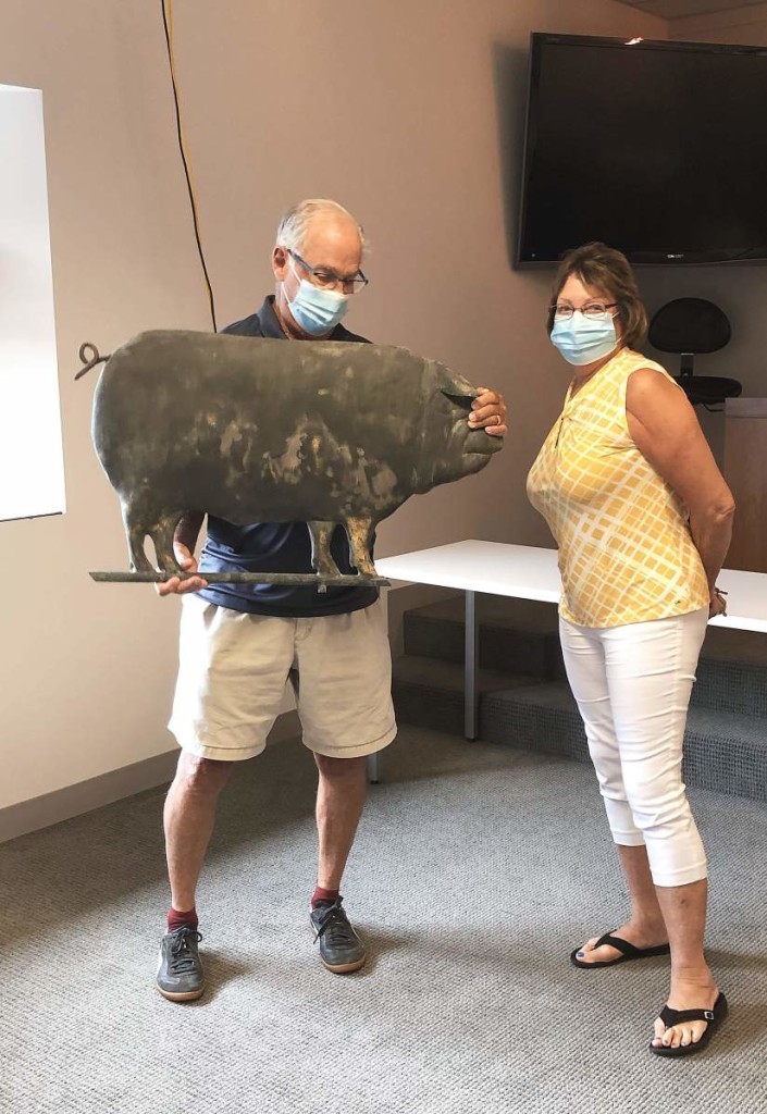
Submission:
[[[685,886],[707,874],[681,776],[687,707],[707,622],[707,607],[605,628],[560,617],[567,680],[612,838],[622,847],[645,844],[656,886]]]

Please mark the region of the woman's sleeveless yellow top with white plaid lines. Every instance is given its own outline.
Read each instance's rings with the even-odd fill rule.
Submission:
[[[622,349],[572,397],[527,477],[527,495],[559,547],[560,614],[589,627],[697,610],[708,584],[682,501],[629,433],[629,375],[652,368]]]

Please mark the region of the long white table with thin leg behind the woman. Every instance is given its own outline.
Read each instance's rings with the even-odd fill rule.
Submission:
[[[477,610],[476,594],[516,596],[557,603],[560,571],[556,549],[513,546],[501,541],[453,541],[376,560],[380,576],[411,584],[459,588],[466,595],[466,697],[464,733],[477,737]],[[727,592],[727,616],[712,625],[767,634],[767,574],[722,569],[718,582]]]

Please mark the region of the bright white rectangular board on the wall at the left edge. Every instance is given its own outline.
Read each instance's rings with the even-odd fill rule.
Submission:
[[[64,510],[42,94],[0,85],[0,519]]]

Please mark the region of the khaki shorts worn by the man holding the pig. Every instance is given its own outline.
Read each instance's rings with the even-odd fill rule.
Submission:
[[[343,615],[292,619],[184,597],[168,727],[185,751],[225,762],[260,754],[283,710],[289,678],[311,751],[359,758],[395,737],[380,599]]]

